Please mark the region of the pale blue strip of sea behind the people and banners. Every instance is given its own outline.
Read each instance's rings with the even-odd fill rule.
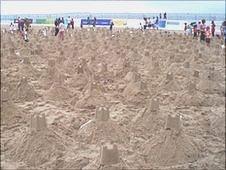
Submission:
[[[163,15],[163,14],[162,14]],[[33,19],[33,23],[36,24],[37,20],[48,19],[53,21],[55,18],[68,16],[73,17],[75,20],[75,26],[80,26],[81,19],[86,19],[87,17],[97,19],[118,19],[126,22],[123,27],[127,28],[138,28],[139,24],[143,22],[144,17],[156,17],[159,13],[59,13],[59,14],[20,14],[20,15],[1,15],[1,24],[10,24],[14,19],[20,18],[30,18]],[[166,30],[183,30],[184,23],[197,22],[199,20],[205,19],[206,24],[210,25],[211,21],[216,24],[216,31],[220,31],[220,26],[223,21],[225,21],[224,13],[167,13],[167,24]],[[50,24],[54,24],[53,22]]]

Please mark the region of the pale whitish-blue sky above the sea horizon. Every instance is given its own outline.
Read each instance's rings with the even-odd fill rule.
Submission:
[[[225,1],[2,1],[1,15],[91,13],[225,13]]]

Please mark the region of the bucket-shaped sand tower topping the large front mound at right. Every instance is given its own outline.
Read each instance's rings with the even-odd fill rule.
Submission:
[[[166,130],[180,131],[180,116],[172,117],[168,115],[166,122]]]

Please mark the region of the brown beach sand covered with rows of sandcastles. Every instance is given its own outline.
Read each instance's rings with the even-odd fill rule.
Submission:
[[[39,29],[1,36],[2,169],[224,169],[221,40]]]

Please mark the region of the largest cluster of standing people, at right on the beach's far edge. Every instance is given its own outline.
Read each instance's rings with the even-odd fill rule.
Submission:
[[[210,46],[210,40],[215,36],[216,24],[211,22],[210,26],[206,25],[205,19],[198,21],[198,23],[187,24],[184,23],[184,34],[193,35],[193,38],[200,39],[200,42],[206,42]]]

